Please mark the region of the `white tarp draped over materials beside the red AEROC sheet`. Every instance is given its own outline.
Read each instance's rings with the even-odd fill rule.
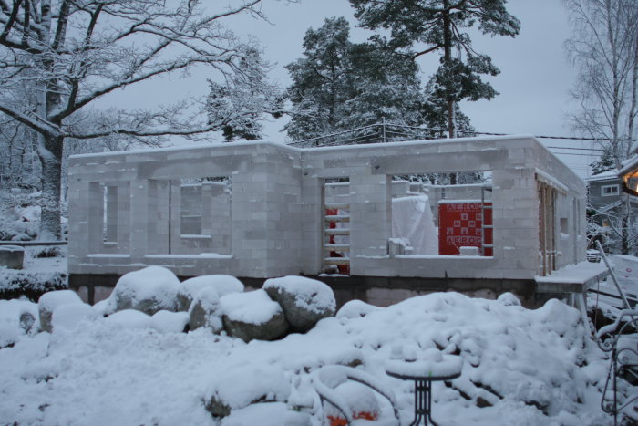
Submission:
[[[413,255],[437,255],[437,228],[427,195],[392,200],[392,236],[407,238]]]

